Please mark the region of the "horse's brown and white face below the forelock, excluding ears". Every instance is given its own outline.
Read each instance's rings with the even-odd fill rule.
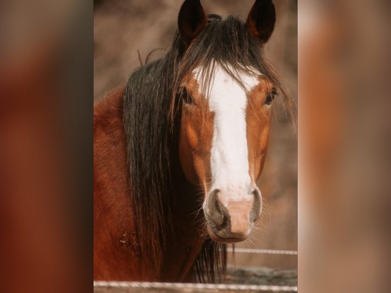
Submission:
[[[256,186],[270,126],[273,85],[261,74],[231,77],[216,65],[209,90],[200,90],[200,68],[182,84],[180,161],[186,178],[201,185],[210,236],[242,241],[262,207]]]

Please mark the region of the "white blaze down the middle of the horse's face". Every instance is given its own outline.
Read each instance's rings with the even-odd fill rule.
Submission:
[[[202,72],[194,70],[199,84]],[[257,75],[241,74],[243,89],[221,66],[217,65],[208,92],[209,110],[214,113],[210,156],[211,190],[224,190],[232,200],[251,193],[246,131],[247,92],[259,81]]]

